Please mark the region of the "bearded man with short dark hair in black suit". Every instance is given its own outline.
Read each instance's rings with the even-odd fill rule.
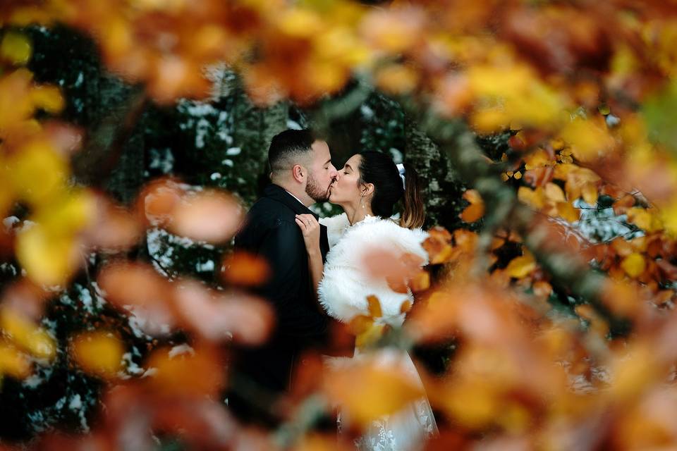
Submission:
[[[240,419],[270,425],[274,423],[269,414],[272,402],[288,389],[295,359],[307,347],[321,343],[327,333],[329,319],[312,290],[295,215],[313,214],[308,206],[329,199],[337,171],[327,142],[310,130],[285,130],[273,137],[268,162],[272,184],[250,209],[235,246],[267,260],[271,276],[257,294],[272,304],[276,328],[267,344],[241,350],[233,362],[231,386],[235,386],[228,394],[228,405]],[[329,251],[324,226],[320,250],[324,261]]]

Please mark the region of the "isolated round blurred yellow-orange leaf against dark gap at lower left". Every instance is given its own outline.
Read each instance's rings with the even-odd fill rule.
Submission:
[[[123,345],[111,333],[81,333],[71,352],[80,368],[103,378],[113,378],[122,367]]]

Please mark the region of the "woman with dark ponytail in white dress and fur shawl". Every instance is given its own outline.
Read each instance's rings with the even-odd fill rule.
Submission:
[[[405,313],[401,307],[404,301],[413,302],[411,292],[395,292],[385,279],[368,276],[364,260],[370,249],[377,248],[398,256],[415,254],[427,261],[421,246],[426,234],[420,229],[424,214],[418,184],[413,168],[396,165],[381,152],[362,152],[350,157],[338,171],[329,197],[329,202],[340,205],[344,213],[320,220],[327,226],[330,246],[324,265],[319,252],[319,224],[310,214],[297,215],[319,302],[329,316],[348,323],[355,316],[368,315],[367,296],[374,295],[382,307],[382,317],[377,321],[402,325]],[[391,216],[400,199],[403,212],[397,223]],[[359,355],[360,350],[356,349],[355,357]],[[422,387],[409,354],[382,350],[379,361],[392,363],[392,357]],[[346,412],[341,412],[340,418],[346,422]],[[424,397],[372,421],[355,446],[358,450],[418,450],[436,433],[437,424]]]

